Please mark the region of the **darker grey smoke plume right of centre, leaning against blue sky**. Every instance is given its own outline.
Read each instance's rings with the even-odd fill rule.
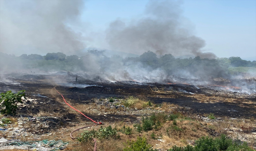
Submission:
[[[146,18],[129,24],[113,21],[107,30],[110,48],[134,54],[153,51],[157,54],[187,55],[215,58],[213,53],[203,53],[205,41],[184,28],[179,1],[150,1]]]

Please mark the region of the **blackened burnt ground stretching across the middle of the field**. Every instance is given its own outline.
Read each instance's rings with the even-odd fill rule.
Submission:
[[[70,81],[69,77],[60,77],[60,75],[26,75],[21,78],[23,79],[20,79],[20,77],[12,79],[13,81],[20,83],[19,85],[6,85],[0,83],[0,91],[4,92],[12,90],[15,92],[18,90],[26,90],[26,92],[31,95],[43,94],[44,96],[53,99],[61,99],[61,96],[53,89],[55,85],[56,89],[66,98],[66,100],[70,101],[71,104],[92,103],[90,100],[93,98],[125,98],[127,96],[140,96],[147,98],[156,104],[162,102],[177,104],[189,108],[192,113],[201,115],[214,113],[217,117],[256,118],[255,93],[248,95],[245,93],[216,90],[206,86],[198,86],[200,88],[198,89],[195,86],[188,84],[168,85],[157,83],[138,84],[136,82],[93,82],[84,79],[74,82]],[[61,82],[56,82],[57,79],[61,79]],[[158,89],[163,88],[163,91],[151,91],[154,87],[157,87]],[[184,91],[184,93],[179,93],[181,91]],[[214,101],[210,101],[210,103],[202,103],[202,101],[200,102],[202,95],[205,97],[205,100],[209,100],[209,98],[213,97],[219,97],[219,100],[216,101],[215,99]],[[47,100],[49,98],[41,97],[41,99]],[[61,105],[62,104],[58,104],[60,108]],[[96,119],[103,120],[101,117],[96,117]]]

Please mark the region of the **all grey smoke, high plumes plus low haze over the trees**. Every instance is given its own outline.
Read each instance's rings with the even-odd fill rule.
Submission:
[[[104,42],[109,44],[111,50],[140,55],[130,58],[106,57],[103,51],[97,52],[102,53],[100,55],[90,51],[79,51],[86,47],[86,37],[89,36],[86,33],[78,33],[77,29],[74,31],[71,27],[74,27],[72,24],[81,25],[78,17],[84,8],[83,1],[0,2],[1,52],[65,53],[63,57],[53,57],[54,59],[42,56],[38,59],[27,55],[15,57],[1,53],[1,74],[52,74],[65,71],[94,81],[180,82],[192,79],[191,83],[230,77],[228,68],[232,64],[232,59],[212,59],[216,57],[214,54],[202,52],[205,41],[194,36],[191,26],[184,23],[186,19],[182,16],[180,1],[150,1],[146,6],[146,17],[133,20],[129,24],[115,20],[110,23],[106,33],[98,33],[106,34]],[[96,38],[91,37],[91,40],[97,43]],[[180,59],[174,58],[171,54],[192,54],[200,57]],[[241,58],[233,59],[233,62],[243,62]],[[253,66],[252,62],[247,65]],[[239,74],[235,69],[232,72],[235,75]],[[255,76],[254,70],[253,73]]]

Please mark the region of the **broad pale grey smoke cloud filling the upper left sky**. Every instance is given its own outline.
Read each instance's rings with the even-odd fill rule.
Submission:
[[[85,48],[79,22],[81,0],[0,1],[0,50],[8,54],[74,52]]]

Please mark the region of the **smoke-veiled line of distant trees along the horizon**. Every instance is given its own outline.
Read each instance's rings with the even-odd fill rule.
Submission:
[[[154,70],[157,68],[163,69],[169,75],[178,74],[178,72],[183,72],[182,74],[193,73],[195,77],[204,75],[205,77],[225,77],[228,75],[228,68],[233,67],[256,67],[256,61],[243,60],[240,57],[229,57],[229,58],[217,58],[217,59],[207,59],[200,58],[196,56],[195,58],[180,59],[174,58],[171,54],[165,54],[163,56],[157,57],[154,52],[148,51],[140,55],[139,57],[127,57],[122,58],[118,55],[112,57],[106,57],[104,55],[104,50],[88,50],[88,54],[85,56],[78,57],[77,55],[67,56],[64,53],[47,53],[45,56],[38,54],[23,54],[20,57],[15,57],[15,55],[7,55],[1,53],[1,57],[13,57],[20,58],[21,60],[29,59],[33,61],[33,67],[58,67],[68,71],[74,70],[85,70],[91,71],[94,68],[95,62],[97,66],[100,67],[101,71],[111,71],[115,72],[115,69],[122,68],[122,66],[135,66],[140,65],[140,67],[147,68],[147,70]],[[36,61],[42,60],[42,61]],[[47,60],[53,60],[52,62]],[[54,61],[55,60],[55,61]],[[29,62],[26,61],[27,66]]]

